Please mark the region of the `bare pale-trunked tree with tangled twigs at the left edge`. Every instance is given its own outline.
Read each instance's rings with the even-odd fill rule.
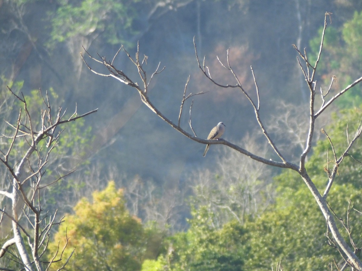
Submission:
[[[78,115],[75,110],[70,117],[65,117],[66,110],[61,107],[53,112],[46,94],[42,96],[44,109],[39,112],[39,116],[34,116],[29,113],[24,95],[18,96],[9,87],[8,89],[23,108],[20,109],[15,124],[6,122],[13,132],[9,132],[9,136],[3,135],[7,144],[5,149],[2,147],[0,150],[0,161],[5,165],[8,176],[8,189],[0,190],[1,203],[9,204],[9,208],[6,205],[0,208],[0,223],[8,218],[12,225],[12,234],[2,244],[0,258],[7,253],[10,246],[15,245],[16,261],[25,270],[48,270],[52,262],[59,261],[56,258],[62,258],[62,248],[59,248],[59,254],[54,255],[50,261],[45,262],[41,258],[46,253],[52,227],[63,219],[56,220],[56,211],[49,214],[42,209],[42,191],[75,169],[66,173],[57,171],[58,176],[51,176],[53,179],[49,180],[45,168],[62,133],[58,126],[83,118],[97,109],[83,115]],[[21,157],[17,157],[18,152],[14,150],[18,142],[26,146]]]

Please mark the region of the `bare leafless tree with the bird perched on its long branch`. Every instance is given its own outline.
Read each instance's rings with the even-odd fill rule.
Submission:
[[[231,67],[230,61],[229,61],[229,50],[227,51],[226,63],[222,63],[222,61],[220,61],[220,60],[219,60],[219,63],[223,66],[223,68],[225,68],[232,74],[235,82],[224,85],[222,83],[216,82],[213,79],[213,77],[211,76],[210,69],[206,65],[205,57],[203,58],[203,61],[200,61],[198,53],[197,53],[197,46],[194,41],[195,55],[196,55],[196,58],[198,61],[199,68],[201,69],[203,74],[216,86],[219,86],[221,88],[236,88],[245,96],[245,98],[247,98],[247,100],[251,104],[252,108],[254,109],[254,115],[260,126],[261,132],[264,135],[266,142],[268,142],[268,144],[270,145],[271,149],[273,150],[273,152],[275,154],[275,157],[276,157],[275,159],[269,159],[269,158],[257,155],[251,151],[248,151],[248,150],[246,150],[240,146],[237,146],[231,142],[228,142],[224,139],[206,140],[206,139],[197,137],[197,135],[195,133],[195,129],[193,128],[193,126],[191,124],[192,104],[191,104],[191,107],[189,110],[190,111],[189,126],[192,130],[192,134],[187,132],[184,128],[181,128],[181,126],[179,125],[180,122],[177,122],[177,121],[174,122],[174,121],[170,120],[168,117],[166,117],[158,108],[156,108],[153,105],[153,103],[150,101],[150,99],[148,97],[148,86],[150,85],[152,78],[154,76],[156,76],[158,73],[162,72],[163,69],[160,69],[160,64],[159,64],[157,66],[156,70],[153,73],[151,73],[150,76],[146,73],[145,66],[147,64],[147,56],[143,56],[143,57],[141,56],[140,51],[139,51],[139,44],[137,46],[135,58],[131,57],[131,55],[125,50],[125,48],[123,46],[118,50],[118,52],[115,54],[115,56],[113,57],[113,59],[111,61],[107,60],[106,57],[101,57],[100,55],[98,55],[98,57],[100,57],[99,59],[92,57],[87,51],[85,51],[86,54],[93,61],[105,66],[105,68],[108,69],[109,73],[101,73],[101,72],[97,72],[96,70],[93,70],[93,68],[90,67],[90,65],[87,63],[87,61],[85,61],[83,55],[82,55],[82,57],[83,57],[85,64],[87,65],[87,67],[93,73],[98,74],[100,76],[113,77],[113,78],[117,79],[118,81],[120,81],[121,83],[124,83],[125,85],[132,87],[132,89],[135,89],[139,93],[142,102],[144,104],[146,104],[146,106],[148,108],[150,108],[152,112],[154,112],[162,120],[164,120],[169,125],[171,125],[171,127],[173,129],[182,133],[184,136],[188,137],[189,139],[202,143],[202,144],[210,144],[210,145],[222,144],[222,145],[228,146],[228,147],[240,152],[241,154],[247,155],[251,159],[254,159],[258,162],[261,162],[261,163],[264,163],[267,165],[271,165],[273,167],[289,168],[289,169],[297,172],[300,175],[300,177],[303,179],[304,183],[307,185],[311,194],[315,198],[316,204],[319,206],[321,212],[323,213],[325,221],[327,222],[327,225],[328,225],[328,233],[331,234],[331,236],[332,236],[331,238],[332,238],[336,248],[338,248],[338,250],[344,255],[346,262],[351,267],[355,268],[356,270],[362,270],[361,260],[356,256],[355,249],[352,250],[351,246],[348,245],[346,240],[341,236],[340,230],[337,227],[336,220],[334,219],[333,213],[331,212],[331,210],[327,204],[328,193],[329,193],[329,190],[331,189],[331,186],[333,185],[333,181],[337,174],[337,169],[338,169],[338,167],[340,167],[345,156],[348,155],[348,151],[352,148],[352,146],[354,145],[356,140],[361,135],[362,126],[360,125],[358,127],[358,129],[355,131],[355,133],[352,137],[350,137],[349,134],[347,133],[348,145],[346,146],[346,148],[342,152],[342,154],[339,155],[338,157],[337,157],[337,153],[334,151],[332,141],[330,141],[331,147],[333,150],[333,154],[334,154],[334,157],[333,157],[334,166],[328,172],[328,176],[327,176],[328,184],[325,187],[325,192],[323,194],[319,193],[319,191],[316,188],[314,182],[312,181],[310,175],[308,174],[308,171],[305,166],[307,156],[308,156],[308,154],[310,154],[310,151],[312,148],[312,139],[313,139],[314,132],[315,132],[316,119],[319,116],[321,116],[321,114],[325,111],[325,109],[327,109],[329,106],[331,106],[331,104],[336,99],[338,99],[341,95],[346,93],[346,91],[350,90],[353,86],[357,85],[359,82],[362,81],[362,77],[358,78],[352,84],[347,86],[345,89],[339,91],[337,94],[333,95],[331,98],[330,98],[330,96],[328,96],[328,94],[329,94],[329,90],[331,89],[331,87],[333,85],[333,79],[332,79],[331,85],[329,86],[328,90],[323,91],[322,89],[320,89],[320,91],[319,91],[316,89],[316,72],[317,72],[317,67],[318,67],[319,61],[320,61],[321,52],[323,49],[324,33],[325,33],[325,29],[327,27],[327,21],[328,21],[327,19],[330,18],[330,15],[331,15],[330,13],[325,13],[324,28],[323,28],[323,33],[321,36],[320,50],[319,50],[319,54],[317,56],[317,60],[315,61],[314,64],[310,63],[310,60],[308,59],[307,52],[305,49],[304,49],[304,51],[303,50],[300,51],[298,49],[298,47],[295,46],[296,51],[299,53],[299,56],[297,58],[298,63],[300,65],[300,68],[302,70],[303,76],[306,80],[307,87],[309,90],[309,109],[307,110],[309,121],[308,121],[307,139],[304,141],[304,144],[303,144],[304,147],[303,147],[303,150],[300,152],[298,163],[290,162],[289,160],[287,160],[285,158],[286,156],[281,152],[281,150],[279,150],[278,146],[274,143],[273,139],[271,138],[270,134],[268,133],[266,126],[264,125],[264,123],[261,119],[261,116],[260,116],[261,104],[260,104],[260,98],[259,98],[260,97],[259,89],[258,89],[258,85],[257,85],[257,81],[256,81],[256,77],[255,77],[253,68],[251,68],[251,71],[252,71],[255,88],[256,88],[256,99],[253,99],[252,96],[244,89],[244,87],[241,85],[241,82],[240,82],[237,74],[234,72],[234,69]],[[128,73],[126,74],[122,70],[122,68],[117,68],[114,66],[114,59],[118,56],[119,52],[121,52],[121,51],[125,52],[129,58],[129,60],[135,65],[135,68],[136,68],[136,70],[139,74],[140,80],[141,80],[140,83],[132,80],[131,77],[129,76],[129,74]],[[185,91],[186,91],[186,88],[187,88],[187,83],[186,83]],[[187,95],[186,97],[190,97],[190,95]],[[318,97],[320,99],[319,108],[317,108],[317,104],[316,104],[316,98],[318,98]],[[182,115],[184,99],[185,99],[185,95],[184,95],[184,98],[181,100],[181,110],[180,110],[180,115],[178,117],[178,120],[180,120],[181,115]],[[327,136],[327,133],[325,133],[325,134]]]

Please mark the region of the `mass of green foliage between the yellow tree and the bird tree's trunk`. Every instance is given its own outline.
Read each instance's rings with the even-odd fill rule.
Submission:
[[[215,229],[201,206],[190,229],[170,238],[172,253],[157,261],[169,270],[269,270],[282,259],[286,270],[327,270],[338,253],[327,245],[323,216],[305,186],[286,188],[290,193],[244,225],[234,220]]]

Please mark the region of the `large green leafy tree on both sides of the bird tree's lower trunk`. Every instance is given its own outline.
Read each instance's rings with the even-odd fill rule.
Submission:
[[[333,125],[325,130],[332,138],[337,155],[348,146],[345,133],[347,123],[350,134],[354,135],[361,118],[362,113],[356,108],[334,114]],[[357,142],[350,153],[359,158],[360,148]],[[333,167],[332,160],[330,143],[323,138],[313,148],[313,155],[307,163],[308,172],[321,193],[328,181],[324,167],[327,168],[327,163],[330,163],[330,168]],[[346,221],[349,199],[354,202],[354,208],[362,208],[362,168],[358,162],[346,157],[338,172],[339,176],[328,195],[328,203],[337,216]],[[270,267],[270,259],[282,259],[286,270],[329,269],[328,263],[333,258],[339,261],[340,256],[337,250],[327,245],[325,220],[302,178],[296,172],[285,170],[275,177],[275,182],[278,186],[275,204],[260,218],[245,224],[246,228],[251,229],[249,242],[252,248],[245,266],[248,270],[265,270]],[[355,229],[362,227],[357,212],[351,212],[350,223]],[[345,240],[349,240],[345,229],[342,226],[340,229]],[[353,237],[356,241],[361,240],[362,233],[356,231]]]

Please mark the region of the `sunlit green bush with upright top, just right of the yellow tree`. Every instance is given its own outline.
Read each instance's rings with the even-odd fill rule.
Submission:
[[[190,229],[169,238],[168,253],[156,263],[167,263],[169,270],[243,270],[244,228],[231,222],[215,229],[205,207],[193,210],[192,215]]]

